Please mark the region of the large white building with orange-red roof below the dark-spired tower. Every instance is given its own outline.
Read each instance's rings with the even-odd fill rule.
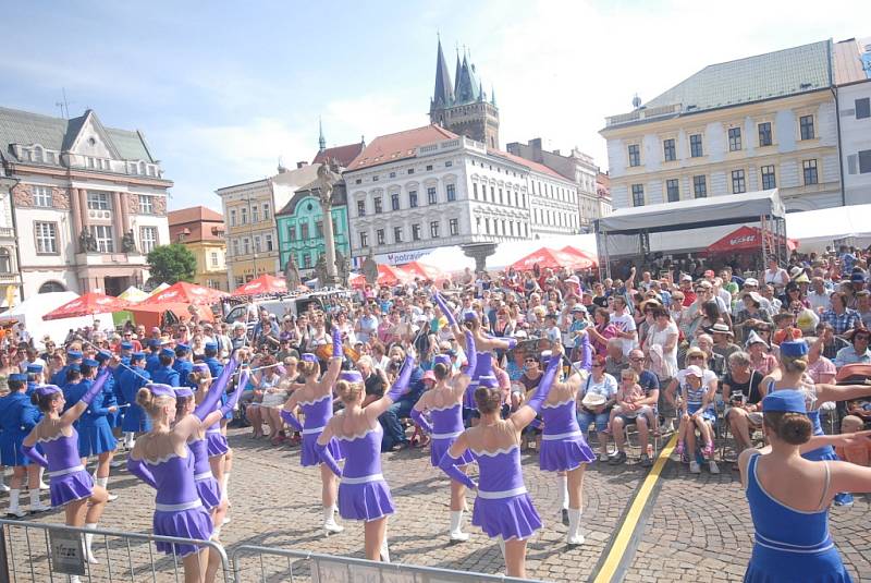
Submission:
[[[437,247],[577,232],[574,184],[437,125],[380,136],[344,172],[352,256],[403,264]]]

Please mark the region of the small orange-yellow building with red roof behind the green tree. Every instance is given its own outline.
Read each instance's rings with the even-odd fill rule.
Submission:
[[[194,283],[233,291],[226,281],[226,240],[224,218],[205,206],[171,210],[170,239],[183,243],[197,258]]]

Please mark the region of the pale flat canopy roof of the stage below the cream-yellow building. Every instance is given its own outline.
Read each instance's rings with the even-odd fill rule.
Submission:
[[[597,231],[608,234],[639,234],[641,231],[684,229],[756,222],[759,217],[784,218],[786,211],[777,190],[692,198],[633,208],[621,208],[596,221]]]

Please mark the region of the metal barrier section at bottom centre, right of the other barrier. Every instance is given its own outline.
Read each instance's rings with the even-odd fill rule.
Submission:
[[[245,557],[248,555],[248,557]],[[234,547],[230,554],[237,582],[310,581],[311,583],[473,583],[504,581],[533,583],[530,579],[470,573],[437,567],[378,562],[352,557],[320,555],[253,545]],[[243,564],[254,562],[252,567]]]

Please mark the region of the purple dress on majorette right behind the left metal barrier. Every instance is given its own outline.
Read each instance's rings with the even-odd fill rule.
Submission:
[[[194,456],[188,451],[181,458],[171,453],[157,462],[143,460],[157,483],[155,499],[155,534],[208,541],[213,527],[211,517],[203,506],[194,482]],[[155,543],[157,549],[168,555],[186,557],[203,547],[175,543]]]

